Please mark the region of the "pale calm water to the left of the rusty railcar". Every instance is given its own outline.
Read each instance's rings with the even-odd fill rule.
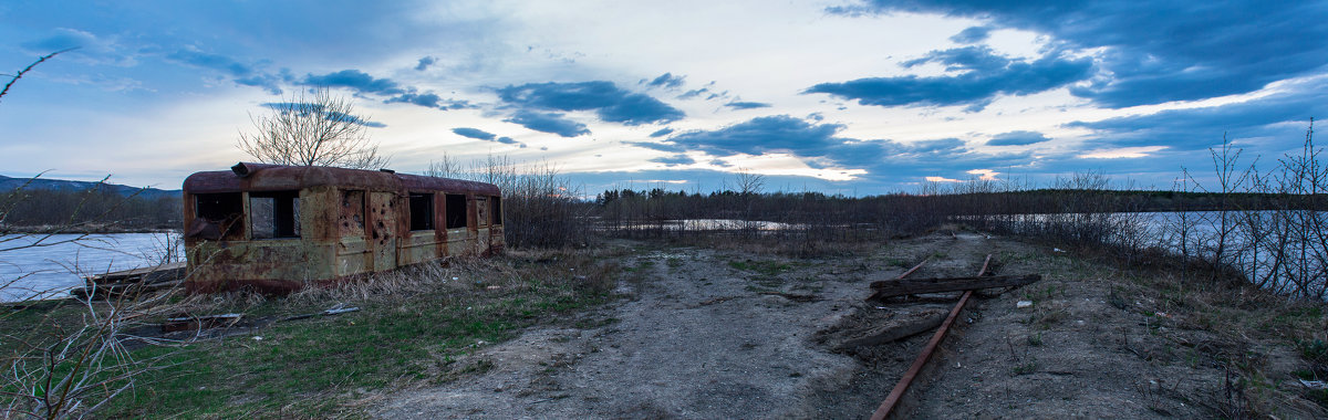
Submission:
[[[84,285],[84,276],[106,272],[154,266],[163,262],[167,244],[177,244],[179,233],[112,233],[93,235],[77,244],[58,244],[9,249],[29,245],[37,237],[0,237],[0,302],[29,298],[50,298],[68,294],[69,289]],[[77,235],[57,235],[42,244],[77,238]],[[12,238],[12,240],[11,240]],[[179,258],[177,258],[179,261]],[[24,277],[27,274],[27,277]]]

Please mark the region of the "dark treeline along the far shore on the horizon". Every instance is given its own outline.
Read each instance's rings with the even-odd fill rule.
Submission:
[[[45,180],[58,182],[58,180]],[[69,182],[61,182],[69,183]],[[9,231],[33,232],[65,227],[64,232],[142,232],[179,229],[178,191],[149,192],[105,183],[80,183],[86,189],[53,189],[48,184],[19,184],[0,196],[0,223]],[[129,188],[129,189],[126,189]],[[926,216],[1037,215],[1068,212],[1195,212],[1220,209],[1328,209],[1328,196],[1287,196],[1254,192],[1137,191],[1102,188],[1038,188],[991,192],[983,182],[954,188],[924,188],[915,193],[849,197],[819,192],[716,191],[709,193],[652,189],[608,189],[592,200],[570,200],[574,213],[610,225],[631,221],[736,219],[807,223],[817,219],[853,224],[879,219]],[[145,189],[146,191],[146,189]],[[1066,205],[1093,203],[1093,208]],[[521,219],[521,215],[509,215]],[[922,221],[922,220],[919,220]],[[928,220],[935,221],[935,220]],[[907,223],[904,223],[907,224]],[[930,223],[922,223],[930,224]],[[896,224],[896,227],[900,227]]]

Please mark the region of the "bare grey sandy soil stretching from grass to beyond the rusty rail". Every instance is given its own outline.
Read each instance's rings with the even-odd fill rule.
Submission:
[[[643,244],[636,244],[645,246]],[[930,333],[835,352],[854,334],[946,313],[957,294],[863,302],[867,284],[931,257],[914,277],[996,273],[1046,280],[972,301],[896,417],[1211,417],[1224,372],[1202,331],[1150,314],[1104,268],[980,233],[938,233],[854,258],[789,260],[664,248],[622,261],[627,298],[578,325],[542,327],[452,363],[452,380],[397,394],[390,419],[862,419]],[[1004,291],[1004,293],[1001,293]],[[1122,297],[1123,295],[1123,297]],[[1017,301],[1032,307],[1017,309]],[[1187,346],[1186,346],[1187,344]],[[1289,350],[1264,363],[1293,368]],[[1280,364],[1279,364],[1280,363]],[[1274,386],[1289,386],[1274,383]],[[1287,401],[1287,417],[1324,415]]]

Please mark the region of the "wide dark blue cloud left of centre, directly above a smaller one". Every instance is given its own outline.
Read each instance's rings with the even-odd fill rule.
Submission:
[[[685,117],[681,110],[659,99],[619,89],[607,81],[507,86],[498,90],[498,97],[527,110],[594,110],[602,121],[628,126],[672,122]]]

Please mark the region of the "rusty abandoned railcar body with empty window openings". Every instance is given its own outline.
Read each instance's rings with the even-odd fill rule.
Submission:
[[[183,189],[191,291],[290,291],[503,248],[502,195],[486,183],[239,163]]]

